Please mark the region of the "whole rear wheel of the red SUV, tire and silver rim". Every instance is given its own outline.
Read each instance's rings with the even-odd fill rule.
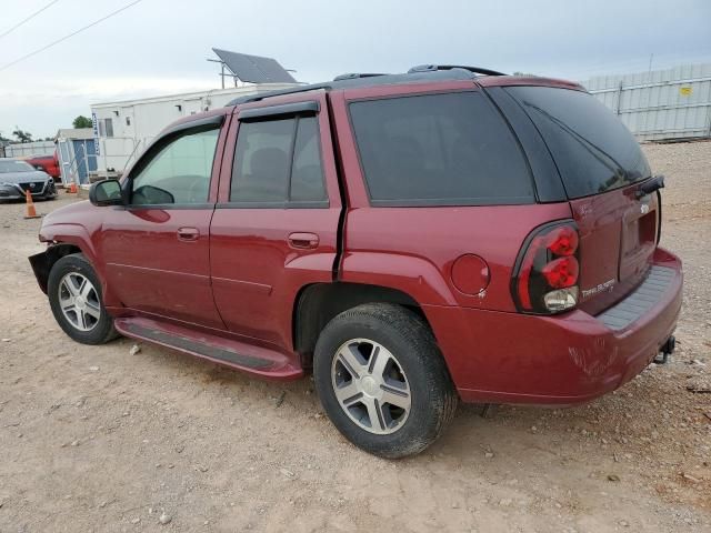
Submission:
[[[364,304],[336,316],[317,342],[313,375],[338,430],[383,457],[421,452],[457,409],[429,326],[400,305]]]

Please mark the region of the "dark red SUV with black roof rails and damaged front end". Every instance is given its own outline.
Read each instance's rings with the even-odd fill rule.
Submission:
[[[347,74],[179,120],[30,261],[72,339],[312,371],[336,426],[398,457],[460,399],[587,402],[671,353],[662,185],[575,83]]]

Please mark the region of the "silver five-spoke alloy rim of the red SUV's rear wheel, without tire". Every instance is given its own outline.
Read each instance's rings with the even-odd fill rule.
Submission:
[[[397,358],[378,342],[344,342],[331,364],[331,384],[343,412],[369,433],[393,433],[410,415],[408,378]]]

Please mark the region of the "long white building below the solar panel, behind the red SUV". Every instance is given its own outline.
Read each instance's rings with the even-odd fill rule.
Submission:
[[[96,103],[94,123],[97,175],[121,173],[174,120],[221,108],[234,98],[294,87],[292,83],[263,83],[172,94],[167,97]]]

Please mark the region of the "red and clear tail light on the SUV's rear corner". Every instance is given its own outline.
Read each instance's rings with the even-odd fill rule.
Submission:
[[[511,292],[520,311],[552,314],[578,304],[579,235],[573,221],[537,228],[523,242]]]

